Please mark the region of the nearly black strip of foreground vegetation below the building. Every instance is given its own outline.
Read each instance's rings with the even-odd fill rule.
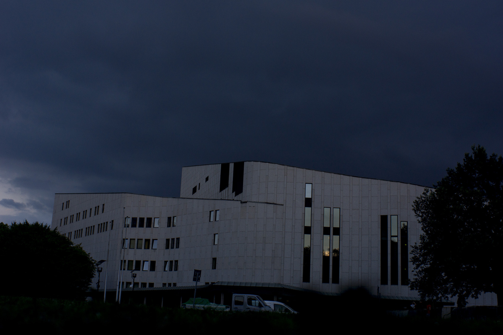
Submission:
[[[309,312],[232,313],[212,310],[170,309],[145,305],[117,305],[103,302],[0,297],[0,333],[45,330],[50,333],[125,333],[189,331],[195,333],[280,333],[311,334],[323,329],[352,332],[425,334],[501,334],[503,322],[445,319],[423,316],[395,317],[372,309],[375,306],[346,305],[344,308],[312,306]],[[367,308],[368,307],[368,308]],[[328,329],[327,329],[328,327]],[[384,327],[384,328],[383,328]]]

